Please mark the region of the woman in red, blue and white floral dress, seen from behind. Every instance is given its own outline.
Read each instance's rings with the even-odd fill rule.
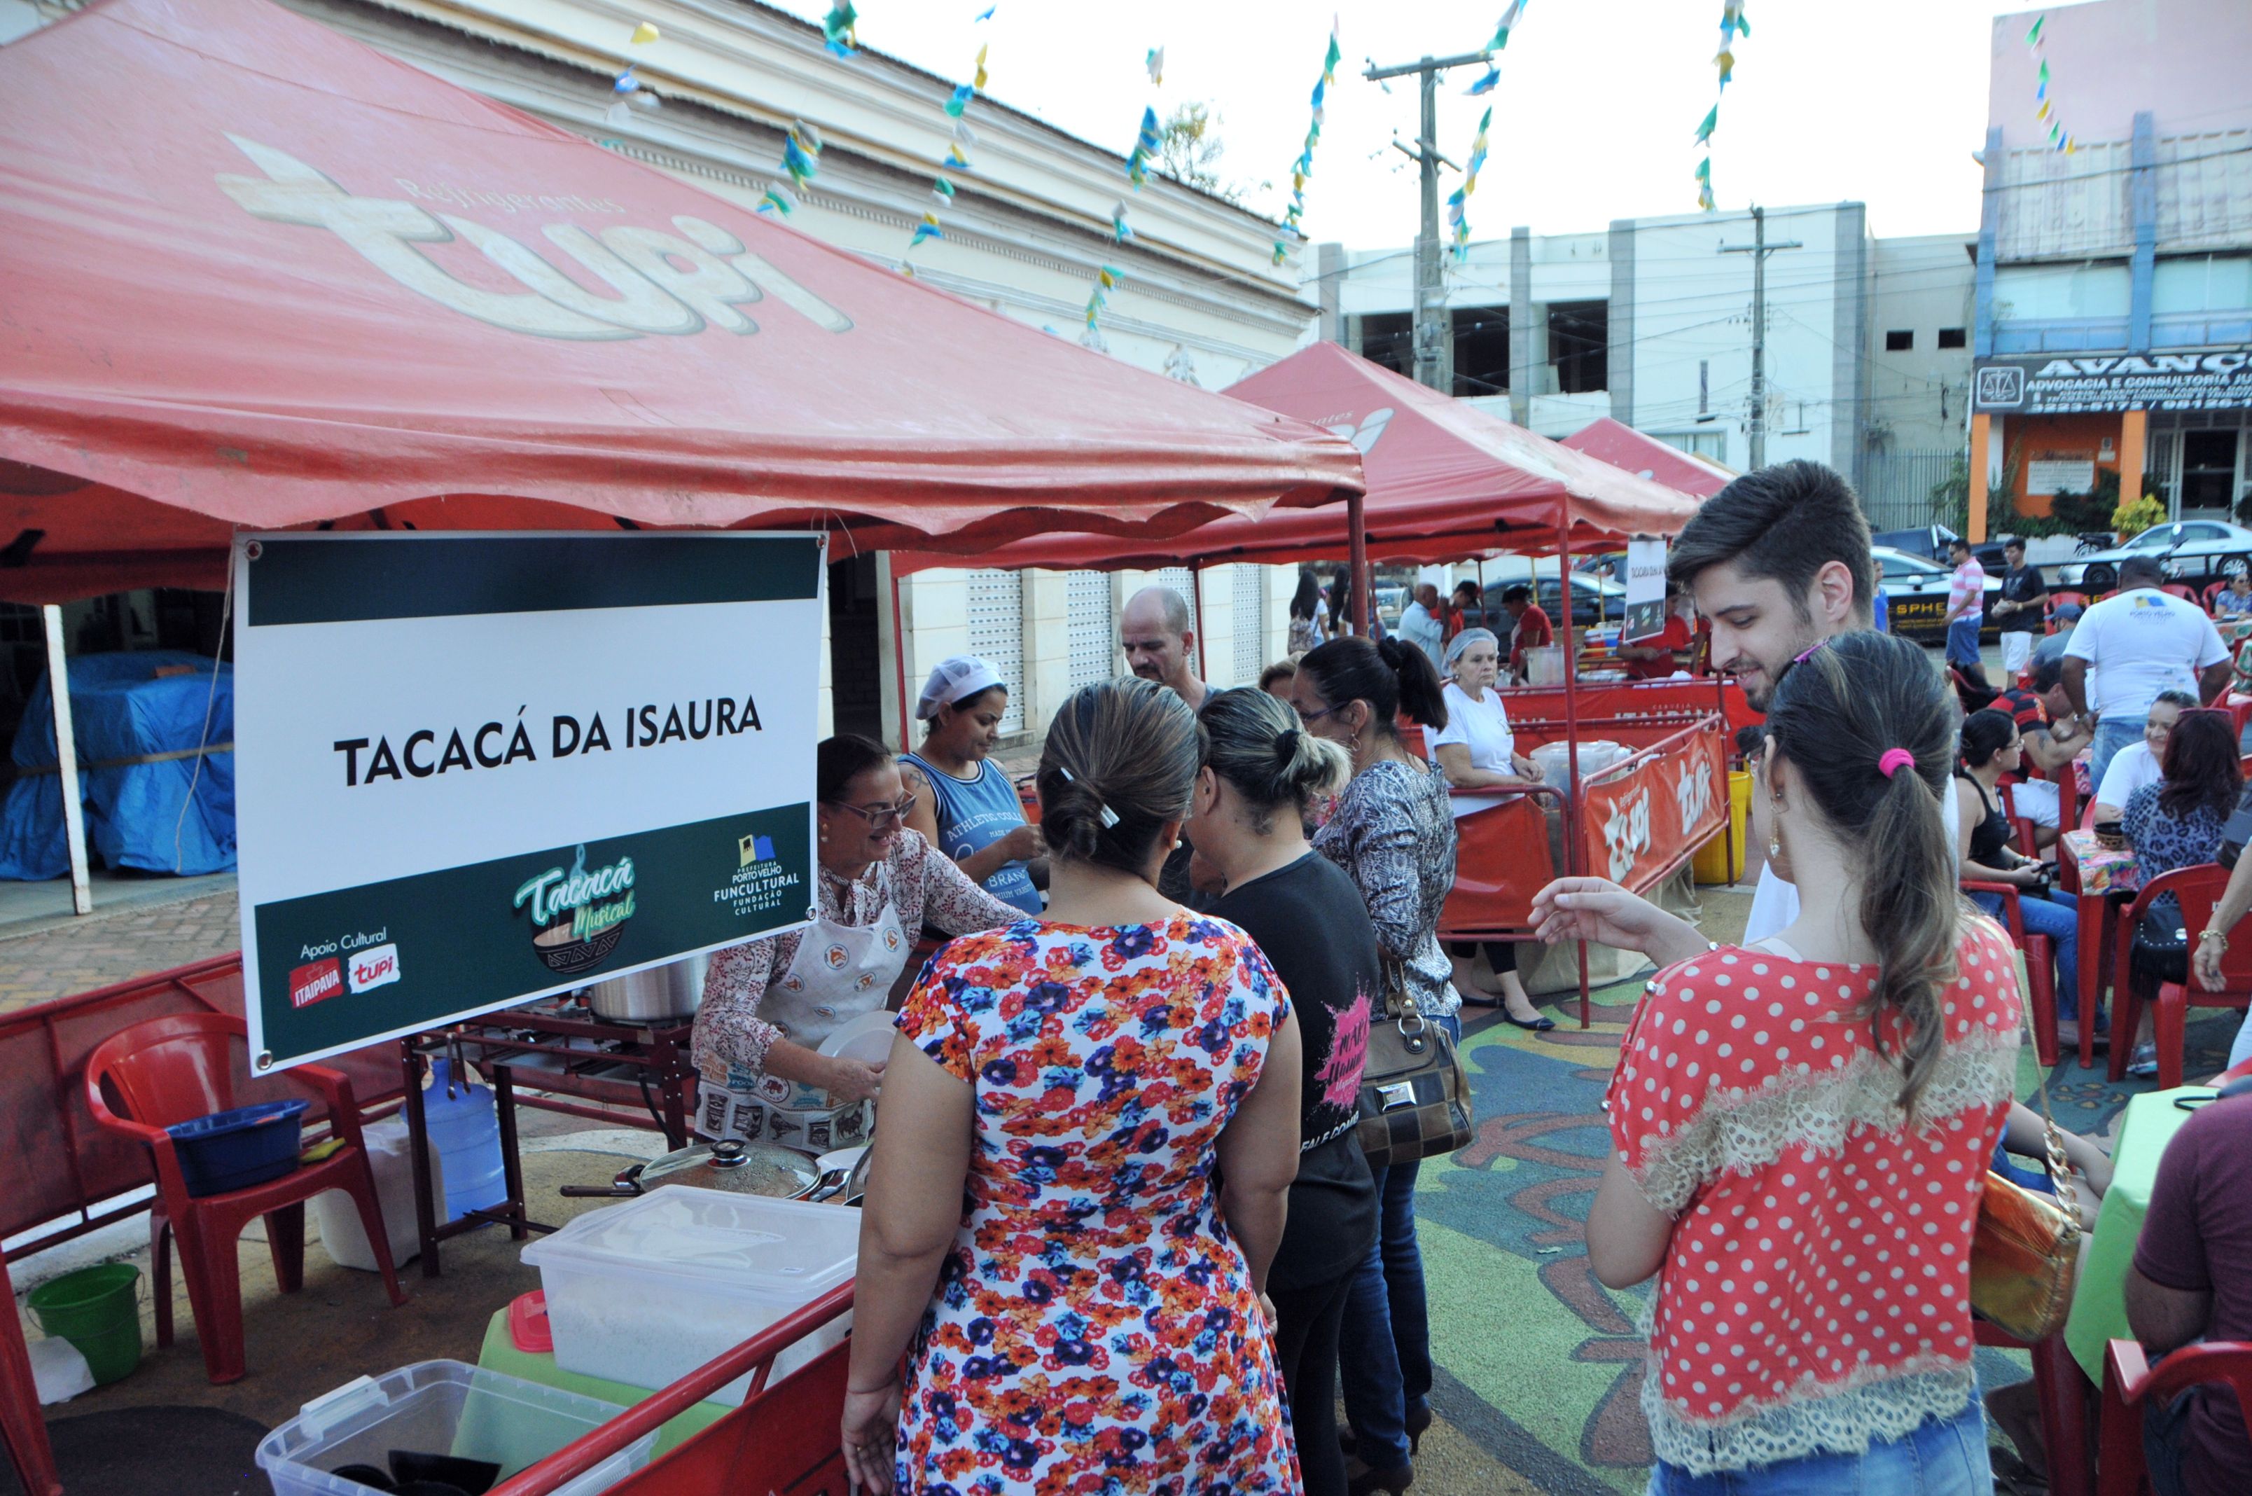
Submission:
[[[948,942],[908,996],[860,1226],[860,1485],[1299,1489],[1261,1309],[1297,1021],[1243,930],[1158,894],[1196,768],[1176,694],[1076,692],[1040,757],[1047,915]]]

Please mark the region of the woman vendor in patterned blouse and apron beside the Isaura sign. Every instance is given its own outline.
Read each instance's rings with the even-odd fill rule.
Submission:
[[[811,1003],[793,1027],[786,1027],[786,1016],[763,1012],[770,987],[786,987],[793,998],[804,994],[806,980],[797,955],[824,924],[840,930],[881,930],[883,937],[874,942],[851,937],[835,942],[847,951],[867,946],[867,962],[856,962],[856,971],[860,964],[867,971],[858,971],[849,985],[858,985],[860,976],[869,978],[865,994],[874,1009],[883,1007],[892,982],[905,971],[914,933],[926,924],[948,935],[964,935],[1022,917],[1022,910],[989,894],[950,856],[901,825],[914,802],[908,800],[899,764],[883,743],[854,734],[826,739],[815,748],[815,798],[820,847],[813,881],[822,924],[716,951],[705,971],[705,1000],[696,1009],[691,1059],[703,1075],[696,1117],[698,1131],[707,1138],[741,1136],[743,1129],[727,1117],[759,1104],[745,1099],[730,1106],[721,1093],[754,1097],[761,1095],[761,1081],[802,1081],[826,1090],[840,1104],[876,1095],[883,1079],[881,1063],[817,1052],[820,1039],[813,1036],[813,1027],[829,1021],[817,1009],[835,1007],[833,1003]],[[795,987],[788,987],[790,982]],[[777,1016],[784,1021],[777,1023]],[[768,1095],[770,1090],[772,1086]],[[804,1147],[806,1140],[784,1138],[784,1142]]]

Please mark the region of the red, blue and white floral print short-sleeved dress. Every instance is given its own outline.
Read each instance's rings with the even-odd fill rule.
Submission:
[[[908,1368],[899,1489],[1297,1491],[1214,1145],[1288,994],[1225,919],[948,942],[899,1030],[977,1093],[962,1235]]]

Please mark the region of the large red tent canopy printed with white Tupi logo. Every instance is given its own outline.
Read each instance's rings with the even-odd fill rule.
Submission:
[[[234,527],[971,547],[1358,487],[1335,437],[266,0],[108,0],[0,50],[0,597],[216,586]]]

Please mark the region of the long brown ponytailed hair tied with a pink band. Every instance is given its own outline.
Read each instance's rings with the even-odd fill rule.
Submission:
[[[1955,710],[1939,671],[1896,633],[1842,633],[1793,665],[1768,707],[1777,757],[1867,870],[1860,928],[1876,944],[1876,1043],[1903,1018],[1901,1108],[1939,1066],[1941,994],[1955,980],[1964,903],[1941,820]],[[1889,768],[1889,773],[1887,773]]]

